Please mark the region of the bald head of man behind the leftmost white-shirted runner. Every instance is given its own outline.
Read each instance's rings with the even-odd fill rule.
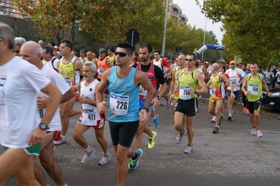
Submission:
[[[37,66],[37,64],[41,64],[42,52],[41,45],[34,41],[28,41],[20,48],[20,57]]]

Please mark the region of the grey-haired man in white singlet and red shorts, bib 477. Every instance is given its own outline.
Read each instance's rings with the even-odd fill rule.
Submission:
[[[104,138],[105,114],[98,113],[96,108],[95,90],[99,85],[99,81],[94,78],[96,72],[97,69],[93,62],[84,63],[84,81],[80,83],[81,96],[79,97],[83,110],[81,117],[76,122],[73,138],[76,143],[84,148],[84,157],[81,159],[81,164],[87,164],[95,149],[88,145],[82,135],[90,127],[93,127],[95,129],[95,138],[103,150],[102,159],[98,164],[103,166],[108,164],[111,155],[107,150],[107,141]]]

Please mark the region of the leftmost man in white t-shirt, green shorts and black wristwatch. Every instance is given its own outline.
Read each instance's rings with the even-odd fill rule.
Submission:
[[[0,185],[12,175],[18,185],[40,185],[34,178],[34,157],[41,150],[48,124],[61,100],[61,93],[39,69],[13,56],[15,36],[0,22]],[[37,114],[37,94],[48,94],[45,115]],[[28,108],[27,108],[28,106]]]

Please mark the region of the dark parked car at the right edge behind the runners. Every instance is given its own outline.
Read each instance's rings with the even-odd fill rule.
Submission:
[[[262,105],[275,110],[280,110],[280,88],[270,89],[269,92],[272,92],[272,96],[268,96],[267,92],[262,92]]]

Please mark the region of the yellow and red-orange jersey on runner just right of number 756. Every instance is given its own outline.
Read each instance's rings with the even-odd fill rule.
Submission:
[[[225,83],[220,81],[221,74],[222,72],[219,72],[216,76],[212,75],[210,77],[211,80],[211,88],[209,90],[210,99],[225,97]]]

